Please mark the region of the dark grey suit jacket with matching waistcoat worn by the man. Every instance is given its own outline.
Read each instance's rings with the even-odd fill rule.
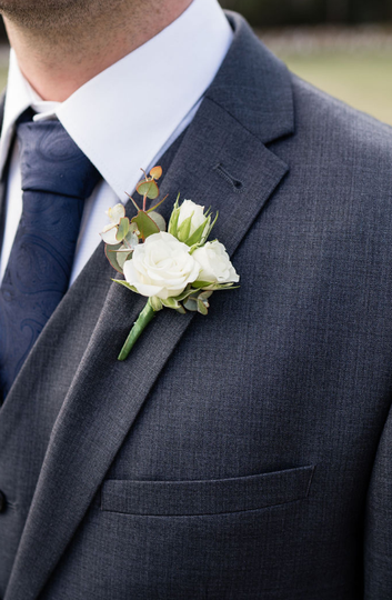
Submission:
[[[3,600],[392,598],[391,130],[230,20],[161,189],[241,288],[118,362],[144,299],[98,248],[0,412]]]

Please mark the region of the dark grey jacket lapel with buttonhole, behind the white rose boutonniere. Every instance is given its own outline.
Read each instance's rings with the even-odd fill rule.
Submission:
[[[265,141],[288,134],[293,127],[292,101],[291,97],[290,101],[287,98],[288,77],[283,77],[280,63],[272,68],[272,59],[263,50],[265,77],[270,71],[273,86],[279,71],[282,93],[273,102],[270,93],[261,98],[263,93],[251,90],[253,76],[244,72],[245,68],[249,71],[244,52],[260,53],[260,48],[247,26],[238,18],[234,21],[233,47],[161,187],[162,194],[170,193],[165,212],[170,212],[177,192],[182,199],[190,198],[219,210],[214,236],[231,256],[288,171],[287,164],[263,146],[260,136],[255,136],[254,127],[260,133],[262,121],[272,119],[272,108],[275,111],[274,131],[271,126],[265,126],[261,136]],[[237,79],[232,79],[234,71]],[[253,111],[250,104],[248,108],[243,104],[242,109],[240,106],[239,94],[243,94],[245,81]],[[280,109],[284,110],[280,112]],[[260,112],[264,117],[261,118]],[[100,277],[99,272],[97,277]],[[115,283],[109,289],[56,420],[4,600],[38,597],[160,371],[194,318],[193,313],[181,316],[172,310],[159,312],[128,360],[119,362],[118,352],[144,303],[145,299]],[[208,318],[199,319],[198,327],[208,326]]]

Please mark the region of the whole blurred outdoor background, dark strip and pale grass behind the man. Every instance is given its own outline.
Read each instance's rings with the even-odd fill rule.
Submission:
[[[392,0],[220,0],[289,68],[392,124]],[[2,43],[1,43],[2,42]],[[0,87],[7,82],[0,22]]]

